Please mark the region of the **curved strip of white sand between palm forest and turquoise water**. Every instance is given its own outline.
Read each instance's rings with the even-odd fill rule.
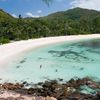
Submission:
[[[74,41],[80,39],[93,39],[93,38],[100,38],[100,34],[47,37],[47,38],[17,41],[13,43],[0,45],[0,67],[4,66],[14,57],[16,58],[17,56],[21,56],[23,52],[29,51],[37,47],[65,42],[65,41],[67,42],[72,40]]]

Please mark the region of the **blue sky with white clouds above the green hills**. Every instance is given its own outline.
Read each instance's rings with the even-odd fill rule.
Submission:
[[[75,7],[100,11],[100,0],[53,0],[50,6],[42,0],[0,0],[0,9],[14,17],[40,17]]]

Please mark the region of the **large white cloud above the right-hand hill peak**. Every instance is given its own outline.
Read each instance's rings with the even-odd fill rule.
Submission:
[[[100,0],[73,0],[70,3],[71,7],[81,7],[100,11]]]

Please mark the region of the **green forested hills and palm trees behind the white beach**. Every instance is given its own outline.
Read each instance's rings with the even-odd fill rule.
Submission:
[[[0,10],[0,43],[30,38],[100,33],[100,12],[82,8],[41,18],[14,18]]]

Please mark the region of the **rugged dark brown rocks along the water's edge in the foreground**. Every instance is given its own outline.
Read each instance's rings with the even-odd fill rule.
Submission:
[[[59,80],[62,81],[62,79]],[[57,98],[57,100],[100,100],[100,92],[97,92],[96,95],[80,93],[79,89],[84,85],[93,89],[100,89],[99,84],[88,77],[83,79],[73,78],[66,83],[59,83],[57,80],[40,82],[35,88],[29,89],[24,88],[26,84],[28,84],[26,81],[22,84],[4,83],[0,84],[0,90],[13,90],[20,94],[32,96],[50,96]],[[39,85],[41,87],[38,87]]]

